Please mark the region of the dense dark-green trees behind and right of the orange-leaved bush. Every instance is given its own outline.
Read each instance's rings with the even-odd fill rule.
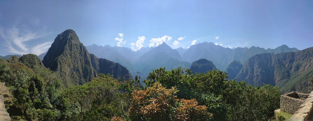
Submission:
[[[278,87],[263,85],[253,87],[244,81],[226,80],[222,71],[208,71],[192,75],[181,68],[152,71],[144,82],[149,87],[158,82],[168,87],[177,87],[178,98],[199,100],[209,107],[215,120],[264,120],[273,116],[279,108],[281,91]]]

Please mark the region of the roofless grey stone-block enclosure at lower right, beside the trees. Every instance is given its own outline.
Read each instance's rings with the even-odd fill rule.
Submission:
[[[280,96],[280,110],[289,114],[294,114],[304,103],[303,97],[308,97],[304,93],[289,92]]]

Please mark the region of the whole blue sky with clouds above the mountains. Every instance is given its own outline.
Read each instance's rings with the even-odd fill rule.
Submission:
[[[0,1],[0,55],[46,52],[73,29],[80,42],[139,50],[202,42],[274,49],[313,46],[311,0]]]

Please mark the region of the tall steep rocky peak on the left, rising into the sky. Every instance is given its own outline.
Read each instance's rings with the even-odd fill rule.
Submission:
[[[89,82],[96,76],[90,54],[71,29],[54,39],[42,62],[45,67],[59,72],[60,77],[67,80],[67,86]]]

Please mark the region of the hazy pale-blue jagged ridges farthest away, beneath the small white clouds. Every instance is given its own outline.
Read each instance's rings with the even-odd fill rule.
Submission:
[[[162,49],[163,45],[165,49]],[[220,45],[215,45],[210,42],[198,43],[196,45],[192,45],[189,49],[183,49],[183,48],[172,49],[168,45],[167,46],[165,45],[166,44],[163,43],[162,45],[159,45],[154,48],[143,47],[137,51],[132,51],[129,48],[126,49],[126,47],[117,47],[117,46],[111,47],[109,45],[105,45],[105,46],[90,45],[90,46],[86,46],[86,48],[88,49],[88,51],[90,51],[90,53],[95,54],[97,57],[106,58],[108,60],[118,62],[121,65],[127,67],[130,70],[132,76],[135,76],[137,74],[136,72],[141,72],[141,75],[147,75],[152,69],[164,67],[164,65],[162,64],[159,64],[157,66],[153,65],[155,64],[154,60],[162,61],[162,62],[157,61],[157,63],[167,64],[164,61],[168,60],[169,59],[168,57],[173,58],[171,59],[172,61],[176,61],[176,62],[179,61],[179,62],[185,63],[185,64],[174,63],[172,61],[168,62],[168,63],[173,63],[175,67],[177,65],[185,65],[188,68],[190,66],[188,66],[189,64],[187,63],[190,63],[191,65],[193,61],[197,61],[199,59],[204,58],[209,61],[212,61],[213,64],[217,67],[217,69],[226,70],[227,66],[231,62],[240,61],[241,63],[244,64],[245,60],[249,59],[255,54],[267,53],[267,52],[279,53],[279,52],[285,52],[285,51],[298,51],[296,48],[289,48],[287,45],[282,45],[282,46],[277,47],[276,49],[267,49],[267,50],[265,50],[264,48],[259,48],[259,47],[254,47],[254,46],[252,46],[251,48],[237,47],[235,49],[229,49],[229,48],[224,48]],[[123,50],[123,51],[119,51],[119,50]],[[173,50],[176,50],[178,54],[176,51],[174,52]],[[162,55],[159,55],[159,54],[156,54],[157,56],[150,56],[150,55],[153,55],[151,51],[153,51],[153,53],[156,53],[156,52],[165,53],[164,59],[163,60],[159,59],[160,57],[162,57]],[[172,55],[168,55],[169,53]],[[125,55],[130,55],[130,56],[125,56]],[[179,55],[181,56],[182,60],[180,60]]]

